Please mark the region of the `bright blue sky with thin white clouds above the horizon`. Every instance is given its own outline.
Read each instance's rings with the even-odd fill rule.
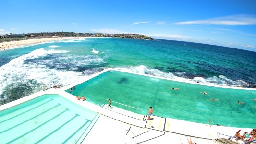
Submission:
[[[256,0],[2,0],[0,35],[138,33],[256,51]]]

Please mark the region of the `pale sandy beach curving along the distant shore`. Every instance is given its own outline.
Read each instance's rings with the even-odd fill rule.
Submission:
[[[0,50],[8,50],[15,46],[29,45],[29,44],[37,44],[47,41],[53,40],[62,40],[62,39],[77,39],[77,38],[85,38],[85,37],[53,37],[53,38],[35,38],[35,39],[25,39],[18,41],[8,41],[0,43]],[[89,38],[89,37],[86,37]]]

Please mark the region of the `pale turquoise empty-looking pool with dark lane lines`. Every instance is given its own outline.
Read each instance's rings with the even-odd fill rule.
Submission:
[[[46,94],[0,111],[2,144],[82,142],[99,115],[57,94]]]

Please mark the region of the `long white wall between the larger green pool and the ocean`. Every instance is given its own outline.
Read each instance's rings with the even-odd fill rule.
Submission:
[[[131,74],[137,74],[137,75],[143,75],[143,76],[148,76],[148,77],[153,77],[153,78],[158,78],[158,79],[164,79],[164,80],[169,80],[169,81],[182,82],[182,83],[198,84],[198,85],[205,85],[205,86],[212,86],[212,87],[220,87],[220,88],[244,89],[244,90],[253,90],[253,91],[256,91],[256,88],[231,87],[231,86],[220,86],[220,85],[212,85],[212,84],[202,84],[202,83],[194,83],[194,82],[190,82],[190,81],[177,80],[177,79],[159,77],[159,76],[148,75],[148,74],[142,74],[142,73],[136,73],[136,72],[127,72],[127,71],[122,71],[122,70],[117,70],[117,69],[112,69],[112,68],[110,68],[110,70],[119,71],[119,72],[126,72],[126,73],[131,73]]]

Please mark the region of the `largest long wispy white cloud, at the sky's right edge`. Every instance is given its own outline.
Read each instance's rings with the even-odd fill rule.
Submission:
[[[252,15],[231,15],[207,20],[177,22],[174,24],[254,25],[256,24],[256,18]]]

